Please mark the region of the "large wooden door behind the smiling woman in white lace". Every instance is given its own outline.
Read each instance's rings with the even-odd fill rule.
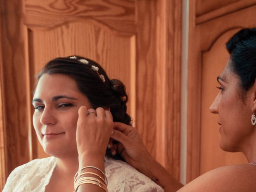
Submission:
[[[179,0],[1,0],[0,8],[0,188],[16,166],[47,156],[32,128],[34,76],[74,54],[124,82],[146,146],[179,178]]]

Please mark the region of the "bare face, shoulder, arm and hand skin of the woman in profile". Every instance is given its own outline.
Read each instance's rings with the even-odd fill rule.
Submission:
[[[223,150],[243,152],[248,162],[256,162],[256,127],[250,122],[252,108],[256,110],[256,83],[243,95],[240,79],[230,68],[228,60],[218,76],[220,92],[210,106],[210,112],[218,114],[220,147]],[[157,177],[165,192],[254,192],[256,189],[256,166],[240,164],[224,166],[201,175],[186,186],[181,185],[153,160],[135,128],[121,123],[114,124],[112,138],[123,144],[124,159],[148,177]],[[132,144],[137,144],[136,148]],[[140,146],[141,145],[141,146]],[[142,147],[143,146],[143,147]],[[112,150],[115,150],[115,146]],[[138,150],[139,149],[139,150]],[[138,160],[138,154],[143,159]]]

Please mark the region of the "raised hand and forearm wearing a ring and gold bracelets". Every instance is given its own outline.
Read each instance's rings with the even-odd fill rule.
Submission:
[[[107,179],[104,174],[104,155],[113,118],[104,108],[78,110],[76,144],[78,149],[79,171],[75,176],[74,188],[78,192],[107,192]]]

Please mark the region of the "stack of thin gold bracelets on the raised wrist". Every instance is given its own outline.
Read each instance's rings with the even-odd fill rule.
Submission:
[[[104,179],[94,172],[84,172],[84,173],[78,174],[80,171],[87,169],[87,168],[94,168],[94,169],[100,171],[102,173],[102,175],[104,176]],[[91,177],[89,175],[94,175],[94,176],[97,176],[98,178]],[[81,178],[81,176],[84,176],[84,177]],[[107,188],[108,180],[106,178],[106,175],[99,168],[94,167],[94,166],[86,166],[86,167],[83,167],[80,170],[78,170],[78,172],[76,172],[76,174],[74,176],[74,191],[76,192],[78,187],[82,184],[94,184],[94,185],[97,185],[100,188],[102,188],[105,192],[108,192],[108,188]]]

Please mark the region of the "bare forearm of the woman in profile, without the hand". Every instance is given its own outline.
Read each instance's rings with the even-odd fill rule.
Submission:
[[[147,164],[139,171],[160,185],[165,192],[176,192],[183,187],[178,180],[153,158]]]

